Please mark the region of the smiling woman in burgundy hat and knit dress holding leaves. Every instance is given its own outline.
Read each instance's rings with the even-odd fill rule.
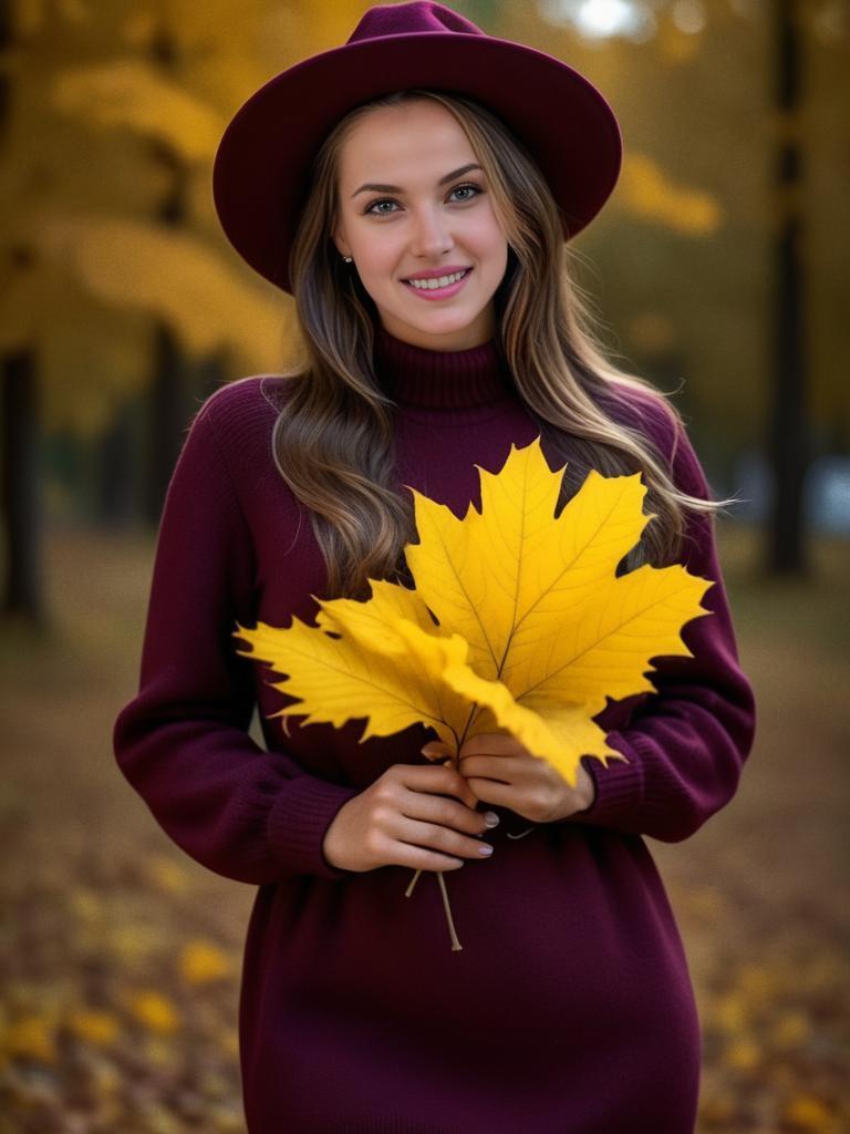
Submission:
[[[186,852],[258,887],[252,1134],[694,1129],[698,1019],[641,836],[685,839],[729,802],[755,710],[721,505],[674,409],[595,344],[568,274],[564,242],[620,153],[573,70],[431,2],[371,9],[222,141],[219,215],[295,296],[306,362],[223,387],[192,423],[114,747]],[[562,501],[592,467],[644,474],[656,518],[623,570],[679,561],[714,582],[713,617],[683,631],[692,657],[596,718],[626,760],[583,758],[573,788],[504,735],[454,768],[422,727],[363,744],[362,721],[284,729],[294,699],[237,653],[236,624],[312,623],[316,596],[368,598],[369,578],[410,585],[408,486],[460,517],[481,507],[478,467],[536,437],[568,462]],[[267,751],[247,735],[255,703]],[[436,885],[402,897],[411,868],[453,871],[461,951]]]

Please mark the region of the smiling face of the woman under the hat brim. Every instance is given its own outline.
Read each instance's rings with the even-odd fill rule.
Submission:
[[[493,337],[508,242],[453,115],[428,101],[369,111],[343,142],[338,193],[334,244],[391,335],[434,350]],[[449,286],[425,282],[447,274]]]

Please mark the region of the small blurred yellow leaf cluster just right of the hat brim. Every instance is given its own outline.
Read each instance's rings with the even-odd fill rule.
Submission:
[[[637,217],[687,236],[711,236],[723,220],[716,197],[700,189],[674,185],[646,154],[623,159],[619,195],[624,208]]]

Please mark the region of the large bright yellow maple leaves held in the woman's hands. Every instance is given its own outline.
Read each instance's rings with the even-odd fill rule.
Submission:
[[[481,514],[458,519],[411,489],[415,591],[373,581],[367,602],[317,600],[315,627],[239,626],[252,646],[239,652],[288,675],[274,687],[301,699],[273,716],[365,717],[362,742],[422,722],[456,754],[501,728],[573,786],[583,754],[624,759],[592,718],[609,697],[654,692],[652,658],[691,655],[680,629],[708,613],[711,582],[681,565],[615,577],[653,518],[646,488],[590,471],[555,521],[561,473],[537,438],[512,446],[498,476],[481,469]]]

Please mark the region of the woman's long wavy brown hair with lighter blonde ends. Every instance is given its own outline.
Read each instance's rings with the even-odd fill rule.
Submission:
[[[589,468],[607,476],[641,472],[645,513],[654,514],[620,568],[674,561],[686,511],[712,501],[675,488],[664,456],[640,423],[618,420],[617,389],[643,391],[681,426],[678,411],[649,382],[620,371],[593,328],[590,301],[571,278],[558,206],[513,133],[487,108],[459,94],[407,90],[351,110],[316,154],[291,251],[290,273],[304,356],[282,375],[272,448],[280,475],[307,509],[325,561],[325,598],[368,596],[367,579],[411,585],[406,543],[416,540],[409,493],[394,486],[394,403],[375,374],[376,307],[331,238],[340,150],[352,126],[377,107],[432,99],[466,132],[487,176],[508,239],[508,266],[494,295],[496,337],[516,391],[536,421],[551,467],[564,462],[556,514]],[[556,464],[555,464],[556,463]]]

